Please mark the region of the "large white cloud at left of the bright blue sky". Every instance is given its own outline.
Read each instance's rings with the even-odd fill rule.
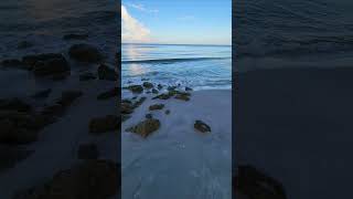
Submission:
[[[132,18],[121,4],[121,40],[124,43],[149,42],[150,30]]]

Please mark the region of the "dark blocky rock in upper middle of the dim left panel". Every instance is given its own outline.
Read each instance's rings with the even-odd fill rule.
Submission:
[[[64,56],[38,61],[33,64],[33,73],[38,76],[64,74],[69,72],[71,67]]]

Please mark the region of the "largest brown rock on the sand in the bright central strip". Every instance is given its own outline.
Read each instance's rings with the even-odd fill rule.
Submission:
[[[140,136],[146,138],[150,134],[152,134],[153,132],[158,130],[160,126],[161,126],[161,124],[160,124],[159,119],[147,118],[146,121],[140,122],[136,126],[132,126],[132,127],[126,129],[126,132],[139,134]]]

